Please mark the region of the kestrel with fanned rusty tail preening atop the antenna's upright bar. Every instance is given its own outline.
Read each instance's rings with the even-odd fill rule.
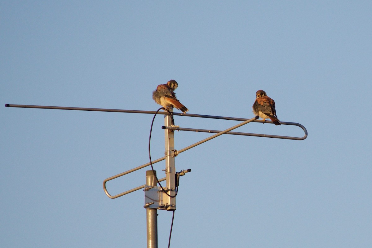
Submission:
[[[155,103],[168,109],[169,107],[175,107],[186,114],[187,107],[183,106],[176,98],[176,93],[173,91],[178,87],[178,83],[175,80],[169,80],[167,84],[159,84],[156,90],[153,91],[153,99]]]

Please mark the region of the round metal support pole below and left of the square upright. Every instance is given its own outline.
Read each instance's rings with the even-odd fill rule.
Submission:
[[[154,174],[155,173],[155,174]],[[156,187],[156,171],[146,171],[146,185]],[[147,248],[158,248],[158,210],[146,209]]]

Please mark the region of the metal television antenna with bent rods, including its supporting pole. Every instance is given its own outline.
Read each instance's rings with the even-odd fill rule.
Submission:
[[[131,170],[125,171],[123,173],[113,175],[112,177],[106,178],[103,180],[103,190],[105,191],[106,195],[111,198],[115,199],[126,194],[132,193],[134,191],[144,189],[145,192],[145,204],[144,208],[146,209],[146,223],[147,223],[147,247],[148,248],[157,248],[157,210],[168,210],[168,211],[175,211],[176,210],[176,184],[178,184],[178,180],[180,176],[185,175],[186,173],[190,172],[191,169],[182,170],[180,172],[176,172],[174,158],[182,152],[187,151],[197,145],[200,145],[204,142],[207,142],[211,139],[214,139],[223,134],[230,134],[230,135],[244,135],[244,136],[256,136],[256,137],[265,137],[265,138],[277,138],[277,139],[293,139],[293,140],[304,140],[307,138],[307,130],[304,126],[299,123],[295,122],[280,122],[281,125],[291,125],[291,126],[298,126],[304,131],[304,136],[302,137],[294,137],[294,136],[280,136],[280,135],[267,135],[267,134],[260,134],[260,133],[245,133],[245,132],[231,132],[232,130],[246,125],[250,122],[262,122],[261,120],[257,120],[259,117],[255,116],[251,119],[244,119],[244,118],[235,118],[235,117],[225,117],[225,116],[211,116],[211,115],[198,115],[198,114],[184,114],[184,113],[173,113],[173,109],[169,109],[169,112],[155,112],[155,111],[144,111],[144,110],[124,110],[124,109],[97,109],[97,108],[83,108],[83,107],[58,107],[58,106],[39,106],[39,105],[19,105],[19,104],[5,104],[5,107],[20,107],[20,108],[34,108],[34,109],[61,109],[61,110],[82,110],[82,111],[98,111],[98,112],[120,112],[120,113],[142,113],[142,114],[159,114],[164,115],[164,126],[161,128],[164,129],[164,138],[165,138],[165,152],[164,157],[158,158],[146,164],[140,165],[138,167],[132,168]],[[240,121],[241,123],[232,126],[231,128],[225,129],[224,131],[218,130],[208,130],[208,129],[194,129],[194,128],[182,128],[178,126],[172,125],[172,118],[173,116],[189,116],[189,117],[199,117],[199,118],[210,118],[210,119],[221,119],[221,120],[236,120]],[[266,123],[272,123],[271,121],[266,121]],[[202,139],[195,144],[186,146],[185,148],[176,150],[174,149],[174,131],[192,131],[192,132],[208,132],[208,133],[215,133],[208,138]],[[166,187],[161,188],[157,186],[157,177],[156,171],[148,170],[146,171],[146,183],[135,187],[133,189],[124,191],[122,193],[111,195],[107,188],[106,183],[111,181],[115,178],[122,177],[126,174],[132,173],[134,171],[140,170],[145,168],[149,165],[155,164],[157,162],[166,160],[166,167],[165,167],[165,174],[166,177],[158,179],[159,182],[166,181]]]

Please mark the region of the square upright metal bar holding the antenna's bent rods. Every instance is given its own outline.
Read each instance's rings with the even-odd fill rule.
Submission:
[[[170,112],[173,112],[172,108],[169,108]],[[172,116],[166,115],[164,116],[164,125],[165,126],[171,126],[174,123],[172,123]],[[170,196],[174,196],[176,194],[176,168],[174,165],[174,152],[176,151],[174,149],[174,131],[173,130],[167,130],[165,129],[165,161],[166,161],[166,167],[165,167],[165,174],[167,178],[167,188],[168,188],[168,194]],[[169,197],[167,195],[164,195],[166,199],[166,209],[168,211],[174,211],[176,210],[176,197]]]

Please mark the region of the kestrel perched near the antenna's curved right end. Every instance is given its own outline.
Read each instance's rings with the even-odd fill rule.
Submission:
[[[266,95],[265,91],[258,90],[256,92],[256,101],[254,101],[252,109],[256,116],[263,118],[263,122],[270,119],[275,125],[280,125],[275,112],[275,102]]]

